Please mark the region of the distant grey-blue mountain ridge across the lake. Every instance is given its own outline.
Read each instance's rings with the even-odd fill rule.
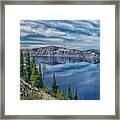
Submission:
[[[22,51],[26,53],[26,49],[22,49]],[[44,47],[30,49],[30,55],[36,57],[40,56],[40,57],[49,57],[49,58],[50,57],[70,58],[70,59],[72,58],[72,61],[78,61],[78,62],[90,62],[90,63],[100,62],[100,52],[94,49],[80,51],[76,49],[68,49],[59,46],[44,46]]]

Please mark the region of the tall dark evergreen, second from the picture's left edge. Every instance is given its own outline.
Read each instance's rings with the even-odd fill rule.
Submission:
[[[30,82],[30,52],[27,50],[27,55],[25,59],[25,80],[26,82]]]

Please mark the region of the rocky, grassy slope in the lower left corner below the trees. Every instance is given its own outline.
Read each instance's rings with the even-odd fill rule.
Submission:
[[[34,95],[34,96],[33,96]],[[32,98],[30,98],[30,96]],[[52,97],[50,94],[46,93],[42,89],[38,89],[36,87],[32,87],[24,80],[20,80],[20,99],[21,100],[56,100],[56,98]]]

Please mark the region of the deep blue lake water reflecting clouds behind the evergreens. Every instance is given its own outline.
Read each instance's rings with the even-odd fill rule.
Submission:
[[[48,57],[36,58],[37,64],[41,64],[44,61],[46,65],[45,76],[44,76],[45,78],[44,84],[46,87],[48,84],[51,85],[52,73],[55,72],[56,82],[65,95],[68,84],[70,83],[72,95],[74,94],[74,89],[77,88],[77,93],[81,100],[100,99],[100,64],[99,63],[92,64],[88,62],[76,62],[73,60],[61,58],[61,59],[55,59],[55,61],[51,61],[52,62],[51,64],[50,60],[51,58],[48,59]],[[59,62],[59,60],[61,62]]]

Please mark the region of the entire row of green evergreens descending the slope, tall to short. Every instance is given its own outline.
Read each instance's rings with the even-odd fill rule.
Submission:
[[[52,73],[52,91],[50,90],[50,84],[47,87],[44,86],[44,64],[38,67],[36,66],[35,57],[30,58],[30,51],[27,50],[26,55],[23,56],[22,50],[20,50],[20,77],[29,83],[32,87],[42,88],[46,93],[51,94],[59,100],[77,100],[77,89],[74,90],[74,96],[72,97],[72,92],[70,84],[68,84],[66,98],[64,93],[60,90],[56,83],[56,75]]]

